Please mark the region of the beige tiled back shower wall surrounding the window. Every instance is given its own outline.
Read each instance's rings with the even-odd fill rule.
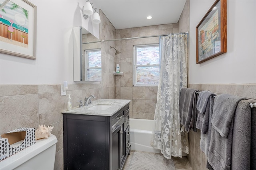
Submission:
[[[116,39],[178,33],[178,23],[116,30]],[[116,76],[116,99],[129,99],[132,118],[154,119],[157,86],[133,86],[133,46],[159,43],[159,37],[116,41],[116,64],[122,76]]]

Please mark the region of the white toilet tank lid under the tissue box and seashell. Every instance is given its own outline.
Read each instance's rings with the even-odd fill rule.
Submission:
[[[50,135],[48,139],[38,139],[34,145],[21,150],[20,152],[13,154],[12,156],[0,161],[1,170],[11,170],[14,169],[24,162],[30,160],[37,154],[43,152],[44,150],[50,148],[52,145],[57,143],[57,138],[54,135]]]

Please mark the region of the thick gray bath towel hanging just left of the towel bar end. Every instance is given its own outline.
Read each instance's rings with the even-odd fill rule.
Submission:
[[[231,168],[234,170],[250,169],[251,108],[249,102],[241,100],[234,115],[231,158]]]

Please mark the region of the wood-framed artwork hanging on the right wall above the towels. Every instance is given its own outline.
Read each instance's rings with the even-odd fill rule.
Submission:
[[[227,0],[216,0],[196,26],[196,64],[227,52]]]

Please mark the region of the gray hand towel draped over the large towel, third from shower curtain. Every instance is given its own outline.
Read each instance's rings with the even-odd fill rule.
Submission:
[[[216,96],[212,113],[212,126],[222,137],[227,137],[236,106],[242,98],[230,94]]]

